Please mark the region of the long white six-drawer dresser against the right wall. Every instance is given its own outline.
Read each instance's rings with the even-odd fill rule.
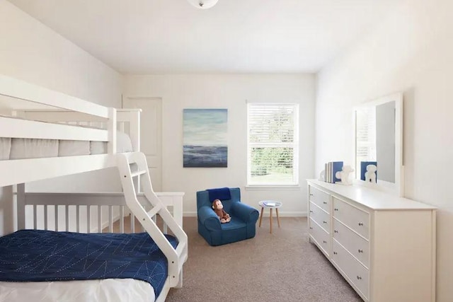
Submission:
[[[435,302],[435,207],[307,180],[309,240],[370,302]]]

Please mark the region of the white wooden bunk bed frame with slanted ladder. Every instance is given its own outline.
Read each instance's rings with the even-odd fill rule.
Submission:
[[[3,109],[1,110],[1,108]],[[8,110],[4,108],[8,108]],[[7,138],[6,141],[9,138],[47,139],[57,140],[57,144],[58,142],[67,143],[69,140],[88,141],[88,143],[96,141],[107,144],[107,153],[93,155],[57,157],[54,152],[53,157],[45,158],[10,159],[11,154],[4,156],[3,160],[0,160],[0,187],[11,188],[11,185],[17,185],[16,221],[18,230],[25,228],[26,207],[33,207],[33,228],[52,231],[69,231],[71,220],[69,212],[71,207],[75,207],[76,231],[82,232],[82,229],[84,229],[84,233],[91,233],[93,230],[101,232],[104,228],[101,207],[108,208],[109,232],[113,232],[114,209],[119,209],[117,210],[119,212],[117,218],[120,218],[120,233],[124,233],[125,212],[130,211],[132,232],[135,231],[134,221],[137,219],[142,225],[142,230],[149,234],[166,257],[168,275],[164,281],[163,289],[159,296],[155,297],[155,301],[165,301],[171,287],[182,286],[182,267],[188,255],[187,236],[182,229],[183,193],[156,194],[152,189],[146,158],[143,153],[139,152],[140,110],[106,108],[0,75],[0,111],[2,114],[0,116],[0,138]],[[9,116],[4,116],[5,114]],[[65,124],[62,124],[62,122]],[[106,125],[106,127],[104,129],[80,127],[81,124],[88,126],[93,124],[97,126]],[[117,153],[117,129],[124,131],[126,128],[129,130],[133,150]],[[0,148],[5,150],[8,147],[11,148],[12,145],[11,142],[10,145],[0,146]],[[5,153],[6,151],[3,151],[3,154]],[[29,193],[25,190],[26,182],[113,167],[119,170],[122,195]],[[142,186],[141,189],[140,185]],[[142,193],[138,194],[137,192]],[[8,202],[12,204],[12,198]],[[167,206],[173,207],[174,217],[168,211]],[[93,208],[97,209],[97,223],[92,223],[93,219],[96,218],[92,215]],[[64,209],[63,215],[62,209]],[[156,223],[157,214],[164,222],[163,230]],[[82,216],[84,216],[84,219],[82,219]],[[27,220],[29,220],[28,217]],[[85,225],[83,225],[84,221]],[[93,224],[96,225],[93,226]],[[166,237],[167,228],[170,228],[172,235],[177,239],[176,248],[173,248]],[[122,281],[124,280],[126,279]],[[85,282],[81,286],[84,289],[86,289],[86,284],[93,283],[93,281],[69,282]],[[95,286],[98,286],[99,282],[101,281],[95,282]],[[106,285],[107,291],[118,288],[121,284],[121,281],[117,279],[110,281],[107,279],[102,282],[113,284]],[[38,283],[40,283],[39,286],[42,285],[41,282]],[[36,284],[35,282],[35,286]],[[23,288],[23,286],[25,284],[18,284],[20,288]],[[72,284],[70,288],[74,292],[77,286]],[[139,301],[138,298],[136,301]]]

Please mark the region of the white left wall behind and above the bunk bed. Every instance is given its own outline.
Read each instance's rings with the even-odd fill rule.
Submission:
[[[0,0],[0,37],[0,74],[101,105],[120,107],[122,76],[117,71],[5,0]],[[101,179],[100,176],[93,173],[91,179]],[[52,180],[52,187],[86,192],[96,190],[100,185],[102,190],[106,186],[103,184],[108,183],[109,180],[98,184],[88,178],[77,181],[68,177]],[[42,185],[45,183],[35,187]],[[9,196],[8,189],[0,188],[0,199],[2,196]],[[6,204],[7,198],[3,199],[0,202],[0,225],[7,224],[4,230],[8,231],[11,230],[11,221],[3,218],[12,216],[12,208]]]

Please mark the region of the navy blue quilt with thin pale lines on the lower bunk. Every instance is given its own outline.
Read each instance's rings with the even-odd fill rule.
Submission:
[[[176,238],[166,237],[176,248]],[[22,230],[0,237],[0,281],[133,278],[151,284],[157,297],[167,272],[148,233]]]

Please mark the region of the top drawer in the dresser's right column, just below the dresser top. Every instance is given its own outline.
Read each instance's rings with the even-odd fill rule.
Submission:
[[[369,214],[366,211],[333,197],[333,217],[369,239]]]

